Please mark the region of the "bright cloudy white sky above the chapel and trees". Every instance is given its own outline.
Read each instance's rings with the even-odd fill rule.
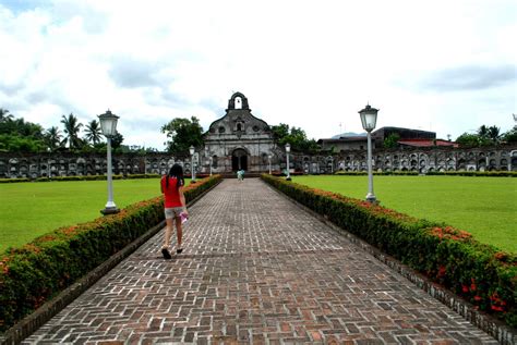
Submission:
[[[517,1],[0,0],[0,108],[61,126],[108,108],[127,145],[225,114],[232,93],[310,138],[377,127],[456,138],[517,113]]]

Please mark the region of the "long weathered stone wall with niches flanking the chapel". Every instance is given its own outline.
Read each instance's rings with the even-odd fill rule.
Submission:
[[[194,155],[196,173],[209,173],[209,156],[204,150]],[[272,155],[272,170],[286,169],[286,153],[278,147]],[[269,162],[266,156],[250,159],[256,172],[267,172]],[[227,162],[221,164],[221,162]],[[213,161],[214,173],[231,172],[231,156],[219,157]],[[166,174],[172,164],[183,167],[185,175],[191,173],[190,157],[172,157],[167,153],[113,155],[115,174]],[[309,156],[291,152],[291,171],[314,173],[332,173],[342,171],[365,171],[366,152],[360,150],[341,151],[333,156]],[[517,171],[517,145],[486,148],[420,148],[404,150],[374,150],[373,168],[376,171]],[[0,178],[16,177],[55,177],[76,175],[104,175],[107,171],[107,159],[103,155],[75,153],[0,153]]]

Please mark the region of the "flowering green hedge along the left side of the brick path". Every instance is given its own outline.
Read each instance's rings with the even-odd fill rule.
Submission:
[[[191,201],[219,182],[185,187]],[[165,219],[163,196],[120,213],[61,227],[0,255],[0,331],[5,331]]]

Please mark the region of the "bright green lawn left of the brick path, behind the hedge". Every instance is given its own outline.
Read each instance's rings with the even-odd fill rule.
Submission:
[[[0,184],[0,252],[60,226],[101,217],[107,188],[106,181]],[[113,181],[118,208],[158,195],[158,178]]]

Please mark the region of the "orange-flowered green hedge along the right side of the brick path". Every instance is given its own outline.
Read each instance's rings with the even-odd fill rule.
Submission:
[[[479,310],[517,326],[517,256],[469,233],[270,175],[262,178],[383,252],[425,274]]]

